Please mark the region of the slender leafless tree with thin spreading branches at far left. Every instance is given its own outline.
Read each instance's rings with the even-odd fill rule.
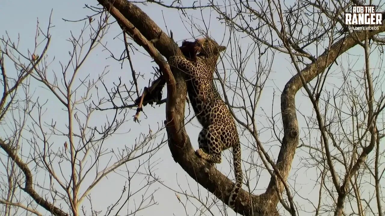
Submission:
[[[8,34],[0,38],[3,215],[129,215],[156,204],[151,185],[157,179],[146,169],[152,171],[151,158],[166,142],[159,136],[162,126],[131,135],[122,127],[132,121],[128,112],[98,110],[110,105],[103,84],[107,66],[84,73],[86,60],[105,46],[108,17],[96,13],[75,22],[83,27],[67,40],[68,61],[49,55],[51,22],[45,30],[38,22],[34,47],[27,52]],[[103,118],[105,125],[99,125]],[[111,146],[118,132],[131,138]],[[116,176],[124,176],[114,183],[121,193],[100,210],[91,191]]]

